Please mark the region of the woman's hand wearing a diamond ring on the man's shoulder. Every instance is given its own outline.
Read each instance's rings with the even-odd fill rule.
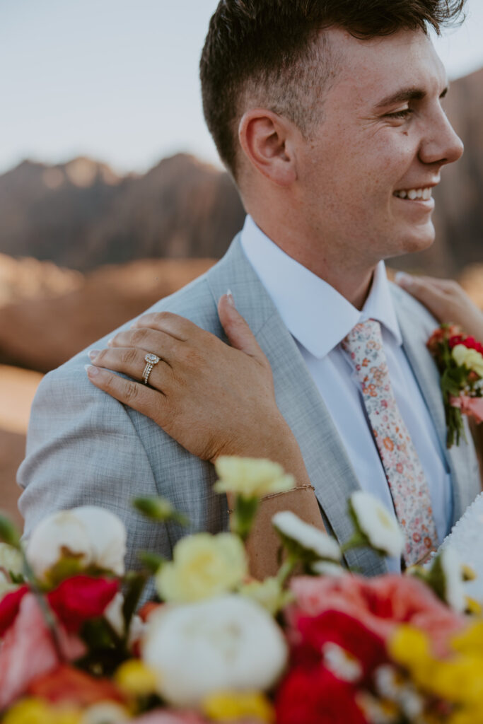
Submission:
[[[147,314],[110,340],[109,349],[91,351],[89,379],[203,460],[264,457],[298,479],[306,477],[298,445],[277,408],[269,361],[231,295],[221,298],[219,318],[231,347],[183,317]],[[146,353],[161,358],[148,385],[141,381]]]

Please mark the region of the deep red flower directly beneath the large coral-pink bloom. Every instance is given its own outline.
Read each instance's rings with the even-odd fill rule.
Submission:
[[[294,659],[301,664],[323,664],[325,644],[337,644],[361,665],[358,683],[369,678],[374,669],[387,662],[385,643],[380,636],[369,631],[361,621],[342,611],[324,611],[318,616],[301,615],[295,621],[301,637],[295,647]],[[322,654],[322,655],[321,655]],[[337,675],[335,671],[332,673]]]

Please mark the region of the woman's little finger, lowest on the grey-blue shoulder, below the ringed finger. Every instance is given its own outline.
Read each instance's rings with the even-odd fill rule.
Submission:
[[[129,405],[143,415],[150,417],[159,426],[163,426],[164,415],[168,411],[167,397],[162,392],[151,390],[140,382],[134,382],[107,369],[86,365],[88,378],[99,390],[107,392],[120,403]]]

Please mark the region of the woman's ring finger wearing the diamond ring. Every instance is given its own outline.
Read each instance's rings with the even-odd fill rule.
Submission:
[[[145,359],[146,352],[135,347],[91,350],[89,358],[96,368],[101,367],[114,372],[122,372],[122,374],[127,374],[127,376],[141,382],[148,364]],[[162,358],[159,358],[159,362],[151,368],[148,384],[163,392],[167,388],[171,377],[171,368]]]

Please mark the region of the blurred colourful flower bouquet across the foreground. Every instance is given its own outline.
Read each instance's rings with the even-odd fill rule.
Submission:
[[[232,532],[186,536],[171,561],[140,555],[138,572],[106,510],[54,513],[26,544],[0,518],[3,724],[483,721],[483,618],[450,545],[403,576],[349,573],[350,548],[403,550],[392,515],[357,492],[342,547],[275,515],[280,571],[255,581],[259,499],[293,479],[266,460],[220,458],[217,473],[236,498]],[[182,520],[161,498],[135,506],[153,524]],[[139,607],[151,576],[159,600]]]

